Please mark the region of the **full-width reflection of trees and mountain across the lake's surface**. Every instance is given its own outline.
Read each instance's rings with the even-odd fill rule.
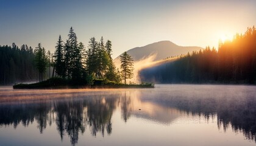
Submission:
[[[63,140],[67,134],[71,144],[76,145],[79,133],[85,131],[90,131],[94,137],[98,134],[103,137],[112,134],[112,115],[120,108],[124,122],[129,122],[129,118],[135,116],[169,125],[186,114],[204,116],[207,120],[217,116],[219,129],[226,131],[232,127],[236,133],[243,133],[246,139],[255,141],[255,88],[249,86],[232,95],[227,95],[226,90],[216,86],[219,91],[213,94],[210,88],[197,86],[196,89],[184,91],[168,87],[63,94],[52,91],[47,92],[47,95],[29,94],[33,99],[25,96],[26,93],[19,93],[19,102],[6,100],[6,95],[1,94],[0,99],[4,100],[0,100],[0,128],[9,125],[14,128],[17,125],[29,127],[36,123],[38,131],[43,133],[55,123],[60,139]],[[11,98],[17,95],[13,92],[7,96]]]

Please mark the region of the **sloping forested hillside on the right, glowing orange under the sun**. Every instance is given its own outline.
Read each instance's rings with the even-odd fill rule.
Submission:
[[[247,28],[232,41],[219,43],[218,51],[206,47],[171,63],[140,71],[143,82],[256,83],[256,29]]]

